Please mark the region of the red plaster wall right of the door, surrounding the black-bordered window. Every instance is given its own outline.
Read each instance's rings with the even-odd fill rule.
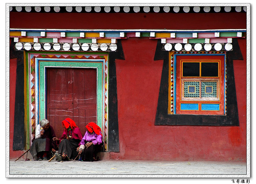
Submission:
[[[125,60],[116,60],[120,152],[111,159],[246,161],[246,50],[234,61],[240,126],[154,125],[162,60],[157,41],[122,40]],[[168,99],[167,99],[168,100]]]

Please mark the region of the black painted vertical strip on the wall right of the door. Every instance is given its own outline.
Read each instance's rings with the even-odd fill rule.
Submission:
[[[117,111],[117,86],[115,60],[124,60],[121,40],[117,40],[117,50],[109,52],[109,151],[119,152],[119,130]]]

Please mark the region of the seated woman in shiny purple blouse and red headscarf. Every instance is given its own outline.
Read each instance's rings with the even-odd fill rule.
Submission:
[[[101,151],[103,145],[101,128],[94,122],[88,123],[85,127],[87,131],[77,151],[79,151],[79,154],[82,154],[80,160],[93,162],[98,160],[96,154]]]

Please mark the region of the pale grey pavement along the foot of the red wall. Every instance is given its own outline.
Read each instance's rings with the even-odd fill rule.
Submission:
[[[175,162],[147,160],[99,160],[98,162],[80,162],[57,160],[16,162],[7,160],[6,177],[224,177],[225,175],[245,175],[244,162]],[[248,174],[248,173],[247,173]],[[176,176],[175,176],[176,175]]]

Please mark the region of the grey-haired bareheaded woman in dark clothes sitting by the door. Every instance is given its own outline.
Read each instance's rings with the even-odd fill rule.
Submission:
[[[47,160],[47,155],[50,151],[55,153],[57,145],[53,140],[54,137],[56,135],[49,121],[47,119],[41,120],[35,129],[35,140],[29,150],[34,159],[37,156],[38,161]]]

